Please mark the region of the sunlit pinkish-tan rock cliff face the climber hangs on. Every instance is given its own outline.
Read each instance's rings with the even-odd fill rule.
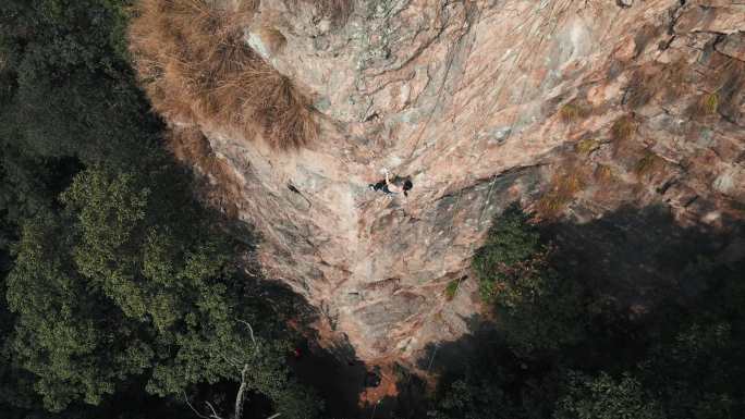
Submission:
[[[359,358],[412,361],[468,332],[469,258],[510,202],[575,223],[651,205],[742,219],[744,30],[723,0],[357,0],[338,19],[265,0],[246,42],[313,98],[319,137],[278,151],[197,128],[269,278]],[[408,197],[368,189],[383,168]]]

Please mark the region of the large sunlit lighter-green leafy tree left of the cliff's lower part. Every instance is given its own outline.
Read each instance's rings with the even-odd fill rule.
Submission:
[[[163,218],[131,173],[86,170],[61,201],[63,217],[24,226],[8,281],[14,348],[49,409],[99,404],[139,375],[148,392],[180,394],[248,365],[251,389],[288,409],[289,394],[301,396],[294,404],[313,411],[288,379],[288,344],[270,340],[277,325],[222,281],[231,251],[219,235],[199,219]],[[256,344],[242,321],[257,328]]]

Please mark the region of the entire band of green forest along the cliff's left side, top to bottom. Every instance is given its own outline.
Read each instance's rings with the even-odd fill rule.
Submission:
[[[113,418],[147,400],[149,415],[144,389],[181,399],[248,366],[282,417],[313,417],[277,312],[160,147],[126,56],[131,5],[0,3],[0,409]]]

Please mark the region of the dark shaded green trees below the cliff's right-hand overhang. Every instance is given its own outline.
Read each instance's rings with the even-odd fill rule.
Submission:
[[[438,394],[435,417],[743,417],[742,258],[718,263],[699,255],[677,268],[676,294],[654,315],[632,318],[567,274],[572,260],[559,259],[561,250],[544,245],[536,229],[513,207],[476,254],[497,336],[464,372],[450,372],[457,385]],[[518,408],[486,410],[487,394],[498,395],[496,406]]]

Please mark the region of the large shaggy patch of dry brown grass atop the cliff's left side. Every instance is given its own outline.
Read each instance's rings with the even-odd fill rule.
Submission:
[[[317,133],[312,102],[245,44],[255,7],[252,0],[141,0],[130,28],[135,66],[167,118],[228,124],[247,138],[258,128],[274,148],[298,148]],[[271,41],[281,44],[278,34]]]

